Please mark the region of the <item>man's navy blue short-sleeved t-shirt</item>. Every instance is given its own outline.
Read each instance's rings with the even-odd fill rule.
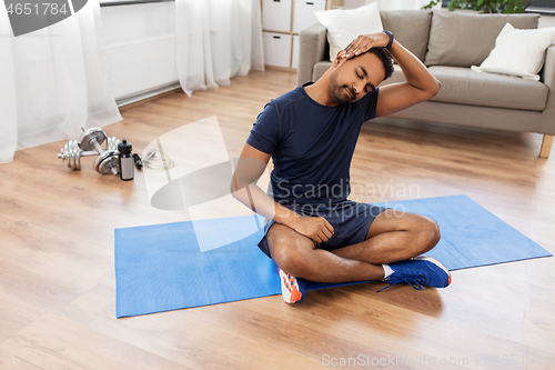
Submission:
[[[379,89],[353,103],[322,106],[302,87],[271,100],[246,143],[272,154],[269,194],[281,203],[335,203],[351,192],[350,168],[362,123],[373,119]]]

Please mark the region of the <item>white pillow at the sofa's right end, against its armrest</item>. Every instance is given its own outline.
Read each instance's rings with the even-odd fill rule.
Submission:
[[[478,72],[518,76],[539,80],[537,72],[545,60],[545,49],[555,42],[555,27],[534,30],[515,29],[506,23],[495,40],[495,48],[480,67]]]

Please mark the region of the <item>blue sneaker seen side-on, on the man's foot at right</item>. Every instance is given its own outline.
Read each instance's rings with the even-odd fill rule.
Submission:
[[[440,261],[432,257],[418,256],[406,261],[390,263],[393,273],[384,279],[391,288],[400,282],[407,282],[414,289],[421,290],[423,286],[445,288],[451,284],[451,273]],[[426,288],[424,288],[426,289]]]

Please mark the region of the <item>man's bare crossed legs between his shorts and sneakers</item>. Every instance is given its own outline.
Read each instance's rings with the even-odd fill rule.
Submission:
[[[440,241],[440,228],[432,219],[391,209],[376,217],[366,239],[356,244],[326,251],[293,229],[274,223],[268,231],[274,262],[287,273],[317,282],[383,280],[383,263],[427,252]]]

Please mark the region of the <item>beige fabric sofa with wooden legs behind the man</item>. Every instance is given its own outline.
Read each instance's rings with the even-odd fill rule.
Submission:
[[[477,14],[447,11],[382,11],[383,28],[442,82],[440,92],[390,117],[544,134],[541,157],[548,157],[555,134],[555,46],[547,49],[541,80],[484,73],[480,66],[506,22],[537,28],[538,14]],[[297,84],[317,80],[331,66],[326,29],[316,23],[300,33]],[[404,81],[396,66],[383,84]]]

